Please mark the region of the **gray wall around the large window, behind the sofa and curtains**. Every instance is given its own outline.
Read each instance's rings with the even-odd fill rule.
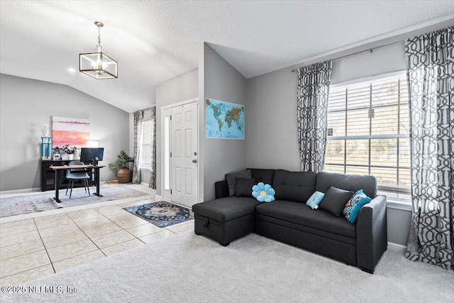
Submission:
[[[329,58],[325,58],[326,60]],[[309,62],[314,63],[314,62]],[[309,64],[308,63],[308,64]],[[297,139],[297,72],[301,65],[248,79],[246,166],[301,170]],[[403,43],[333,61],[331,80],[344,82],[406,68]],[[388,240],[406,245],[411,211],[388,207]]]

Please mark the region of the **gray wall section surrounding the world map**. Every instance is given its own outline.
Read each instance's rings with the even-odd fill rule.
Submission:
[[[204,105],[205,99],[216,99],[245,105],[245,117],[252,110],[246,104],[247,80],[235,70],[226,60],[204,43],[201,52],[203,75],[200,77],[200,99]],[[223,180],[227,172],[243,170],[246,167],[246,141],[249,139],[245,133],[245,140],[233,139],[207,139],[205,138],[205,106],[199,106],[200,115],[200,141],[203,151],[203,199],[214,199],[214,182]],[[250,123],[245,118],[245,129]]]

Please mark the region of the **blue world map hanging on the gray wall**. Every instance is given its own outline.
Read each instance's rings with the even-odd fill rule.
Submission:
[[[206,99],[205,128],[206,138],[244,140],[244,105]]]

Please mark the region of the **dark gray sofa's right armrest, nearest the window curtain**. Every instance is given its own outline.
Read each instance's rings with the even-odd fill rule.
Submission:
[[[387,250],[386,196],[377,196],[362,206],[356,222],[356,265],[373,273]]]

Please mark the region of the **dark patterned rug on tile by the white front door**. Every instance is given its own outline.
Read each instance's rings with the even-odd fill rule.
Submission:
[[[194,219],[192,210],[160,201],[123,208],[157,227],[166,227]]]

